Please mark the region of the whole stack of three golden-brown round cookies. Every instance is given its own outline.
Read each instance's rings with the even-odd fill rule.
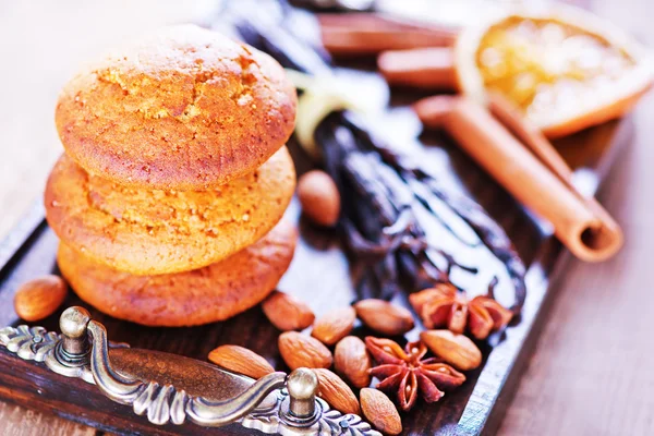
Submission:
[[[221,320],[287,270],[295,90],[267,55],[196,26],[133,41],[63,88],[46,186],[59,267],[96,308],[152,326]]]

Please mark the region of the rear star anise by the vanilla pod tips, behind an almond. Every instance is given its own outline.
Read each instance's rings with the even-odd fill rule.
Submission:
[[[504,328],[513,313],[493,296],[477,295],[468,300],[449,283],[438,283],[409,295],[409,301],[427,328],[447,327],[462,334],[465,327],[477,339],[486,339],[492,331]]]

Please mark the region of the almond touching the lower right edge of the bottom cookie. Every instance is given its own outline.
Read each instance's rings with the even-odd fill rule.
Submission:
[[[316,317],[306,304],[280,291],[268,295],[262,303],[262,308],[268,320],[281,331],[303,330]]]

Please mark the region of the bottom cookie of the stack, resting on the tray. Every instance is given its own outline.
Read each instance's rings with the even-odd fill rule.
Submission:
[[[225,261],[187,272],[132,276],[61,244],[57,259],[82,300],[121,319],[146,326],[193,326],[227,319],[275,289],[298,239],[288,221]]]

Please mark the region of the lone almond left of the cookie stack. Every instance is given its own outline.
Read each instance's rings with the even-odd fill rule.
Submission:
[[[16,314],[35,322],[52,315],[65,300],[68,288],[59,276],[44,276],[23,283],[14,295]]]

